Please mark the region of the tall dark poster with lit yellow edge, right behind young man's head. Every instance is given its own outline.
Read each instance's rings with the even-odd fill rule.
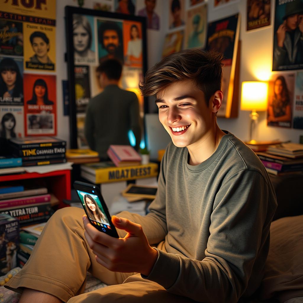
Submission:
[[[207,49],[220,52],[224,56],[222,105],[218,117],[229,118],[234,94],[235,65],[239,39],[239,15],[210,22],[207,32]]]

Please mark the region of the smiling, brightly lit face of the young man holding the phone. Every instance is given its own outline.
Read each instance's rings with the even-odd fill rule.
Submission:
[[[178,147],[199,144],[212,126],[212,107],[190,80],[176,82],[157,94],[159,120]]]

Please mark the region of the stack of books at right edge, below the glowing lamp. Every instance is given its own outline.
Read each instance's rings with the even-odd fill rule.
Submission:
[[[266,152],[256,154],[270,174],[300,174],[303,171],[303,144],[270,145]]]

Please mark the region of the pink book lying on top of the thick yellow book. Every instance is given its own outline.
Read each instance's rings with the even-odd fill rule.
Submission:
[[[130,145],[110,145],[107,155],[117,167],[141,164],[140,155]]]

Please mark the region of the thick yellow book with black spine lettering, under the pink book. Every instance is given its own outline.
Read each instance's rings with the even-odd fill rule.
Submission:
[[[157,175],[157,163],[117,167],[108,161],[81,165],[81,176],[95,184],[156,177]]]

